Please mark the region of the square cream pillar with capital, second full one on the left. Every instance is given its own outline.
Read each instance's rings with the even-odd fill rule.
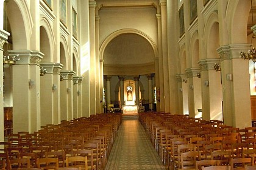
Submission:
[[[60,70],[62,64],[40,64],[47,73],[40,77],[41,125],[60,123]]]

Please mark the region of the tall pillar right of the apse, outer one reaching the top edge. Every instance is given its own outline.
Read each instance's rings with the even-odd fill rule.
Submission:
[[[165,97],[165,112],[170,112],[170,92],[169,92],[169,66],[168,66],[168,46],[167,46],[167,13],[166,0],[160,0],[161,24],[162,24],[162,53],[163,53],[163,88]]]

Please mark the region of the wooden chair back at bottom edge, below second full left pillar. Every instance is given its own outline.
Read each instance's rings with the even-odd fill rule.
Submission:
[[[38,158],[37,168],[57,170],[59,169],[59,160],[58,158]]]

